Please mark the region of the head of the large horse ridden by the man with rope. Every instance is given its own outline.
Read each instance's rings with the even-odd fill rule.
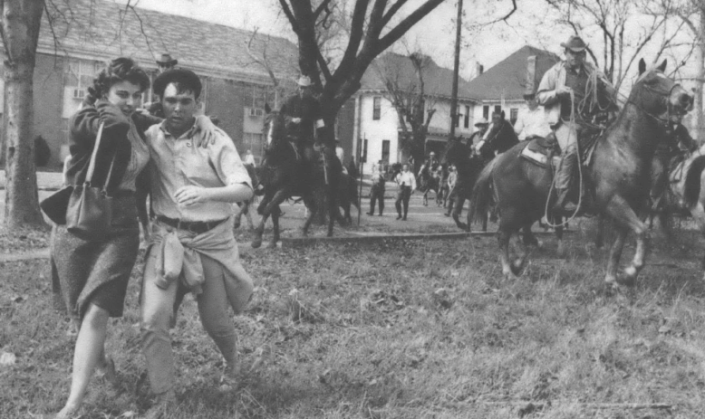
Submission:
[[[658,119],[662,125],[678,122],[693,108],[693,97],[681,84],[676,83],[663,71],[666,60],[658,67],[646,68],[646,63],[639,61],[639,78],[634,83],[630,101]]]

